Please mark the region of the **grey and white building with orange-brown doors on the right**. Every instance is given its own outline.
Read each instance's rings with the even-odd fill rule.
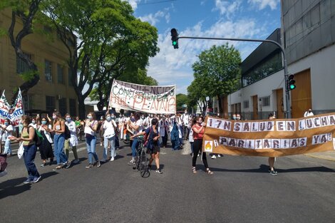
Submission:
[[[282,0],[282,27],[269,36],[280,42],[297,88],[289,92],[292,118],[311,108],[335,111],[335,1]],[[223,99],[225,116],[285,118],[285,81],[279,48],[262,43],[242,62],[242,88]]]

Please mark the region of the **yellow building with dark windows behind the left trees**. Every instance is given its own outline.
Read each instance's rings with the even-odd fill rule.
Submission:
[[[22,26],[16,19],[16,26]],[[11,11],[0,11],[0,27],[8,29],[11,25]],[[22,50],[38,66],[40,81],[24,96],[24,110],[28,113],[51,112],[59,110],[62,115],[78,114],[78,100],[71,85],[71,72],[68,69],[69,53],[57,34],[48,26],[40,26],[42,32],[26,36]],[[6,90],[10,100],[14,89],[23,83],[20,74],[28,71],[26,63],[16,57],[8,36],[0,37],[0,90]]]

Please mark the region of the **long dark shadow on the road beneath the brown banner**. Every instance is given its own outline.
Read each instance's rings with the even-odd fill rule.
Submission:
[[[335,172],[335,170],[327,167],[304,167],[304,168],[293,168],[293,169],[279,169],[274,168],[278,172]],[[268,165],[259,165],[258,169],[247,169],[247,170],[232,170],[232,169],[221,169],[221,168],[210,168],[213,172],[269,172]]]

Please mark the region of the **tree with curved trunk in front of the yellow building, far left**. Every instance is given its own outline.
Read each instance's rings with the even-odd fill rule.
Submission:
[[[22,40],[33,33],[34,24],[36,17],[41,16],[39,11],[39,6],[41,0],[1,0],[0,10],[11,9],[11,26],[9,26],[8,34],[11,40],[11,46],[14,47],[16,56],[20,58],[24,63],[27,64],[29,72],[22,73],[20,76],[24,83],[22,83],[19,88],[21,88],[22,95],[26,95],[29,89],[33,88],[39,81],[38,67],[33,63],[32,59],[22,51],[21,43]],[[16,19],[20,19],[23,26],[16,22]],[[14,102],[16,95],[14,93],[12,101]]]

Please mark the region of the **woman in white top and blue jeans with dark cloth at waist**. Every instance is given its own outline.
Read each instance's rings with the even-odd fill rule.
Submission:
[[[92,112],[88,113],[87,119],[83,124],[85,124],[84,133],[88,153],[88,165],[86,166],[86,169],[89,169],[94,165],[100,167],[100,161],[96,154],[96,130],[98,129],[98,121],[95,120],[95,114]],[[93,157],[96,160],[95,163],[93,163]]]

